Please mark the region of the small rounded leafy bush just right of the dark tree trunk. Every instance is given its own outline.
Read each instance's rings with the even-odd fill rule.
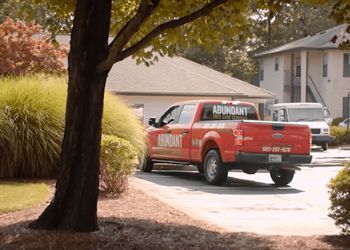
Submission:
[[[135,148],[127,140],[103,135],[101,143],[100,187],[114,195],[122,193],[128,176],[135,171]]]

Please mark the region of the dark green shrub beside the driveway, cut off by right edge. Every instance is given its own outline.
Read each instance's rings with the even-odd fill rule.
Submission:
[[[330,214],[343,233],[350,235],[350,162],[328,184]]]

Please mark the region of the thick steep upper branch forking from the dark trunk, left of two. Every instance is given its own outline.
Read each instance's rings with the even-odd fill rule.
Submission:
[[[141,1],[135,16],[124,25],[109,45],[108,57],[97,66],[98,72],[109,70],[113,66],[115,58],[118,58],[118,54],[120,54],[130,38],[139,30],[141,25],[152,14],[153,10],[157,8],[159,1]]]

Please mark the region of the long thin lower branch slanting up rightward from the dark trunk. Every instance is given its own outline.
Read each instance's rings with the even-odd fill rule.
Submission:
[[[128,56],[134,54],[137,50],[140,48],[143,48],[147,43],[149,43],[154,37],[160,35],[162,32],[164,32],[167,29],[174,29],[177,27],[180,27],[186,23],[192,22],[195,19],[208,15],[210,11],[212,11],[215,7],[222,5],[224,3],[228,2],[228,0],[213,0],[209,4],[205,5],[201,9],[187,15],[184,17],[181,17],[179,19],[175,19],[163,24],[160,24],[156,28],[154,28],[150,33],[148,33],[144,38],[142,38],[140,41],[132,45],[131,47],[125,49],[118,58],[115,58],[115,62],[121,61]]]

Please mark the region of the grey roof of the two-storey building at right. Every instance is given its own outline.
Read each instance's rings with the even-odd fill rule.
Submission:
[[[307,36],[282,46],[266,50],[254,57],[259,58],[266,55],[276,54],[285,51],[300,50],[300,49],[338,49],[339,44],[343,41],[350,41],[350,33],[346,32],[349,29],[348,24],[342,24],[331,29],[317,33],[314,36]]]

